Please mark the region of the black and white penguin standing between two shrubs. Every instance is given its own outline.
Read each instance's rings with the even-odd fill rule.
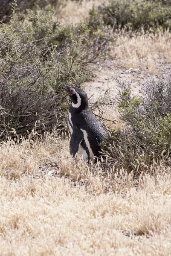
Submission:
[[[89,109],[87,93],[78,87],[63,87],[72,104],[69,108],[68,125],[71,132],[70,154],[74,157],[80,151],[84,161],[96,161],[107,132]]]

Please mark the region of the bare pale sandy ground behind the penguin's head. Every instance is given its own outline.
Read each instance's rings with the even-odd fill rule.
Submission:
[[[130,81],[133,93],[141,94],[143,91],[143,82],[151,77],[157,79],[159,76],[165,76],[171,70],[171,64],[163,64],[160,67],[159,74],[151,75],[145,69],[125,69],[116,66],[115,61],[106,60],[99,63],[96,73],[94,74],[93,81],[85,84],[85,90],[90,102],[96,101],[100,94],[104,95],[107,88],[110,88],[109,104],[115,105],[118,99],[118,83],[116,77],[123,80]]]

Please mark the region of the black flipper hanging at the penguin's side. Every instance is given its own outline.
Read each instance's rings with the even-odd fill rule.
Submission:
[[[75,154],[78,153],[80,144],[83,139],[84,139],[83,132],[80,129],[74,127],[72,131],[71,140],[70,140],[70,154],[72,157],[74,157]]]

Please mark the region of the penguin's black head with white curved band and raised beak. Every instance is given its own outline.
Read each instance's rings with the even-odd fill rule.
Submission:
[[[88,97],[87,93],[78,87],[69,87],[64,84],[64,90],[67,91],[73,108],[86,109],[88,108]]]

